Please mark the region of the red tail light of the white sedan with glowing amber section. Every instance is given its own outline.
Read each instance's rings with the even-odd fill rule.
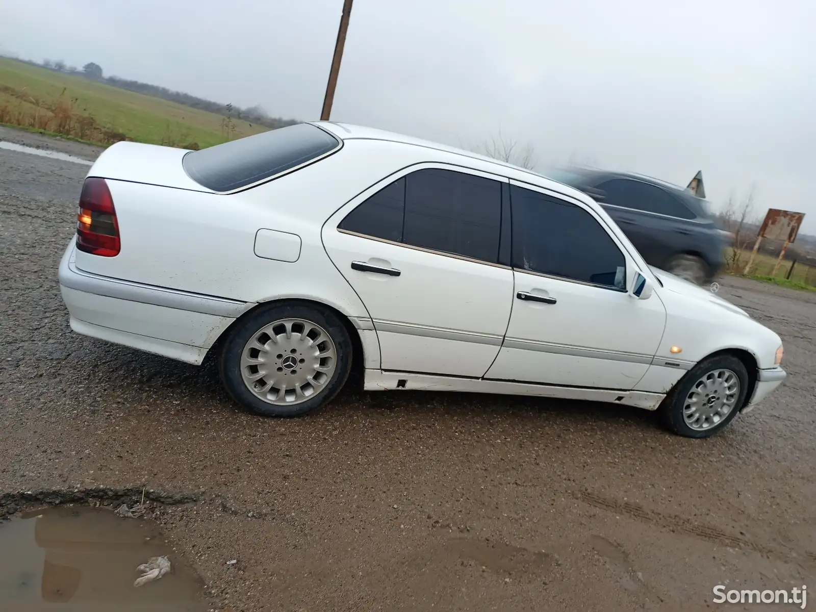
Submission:
[[[104,179],[91,177],[82,184],[77,212],[77,248],[103,257],[119,254],[119,224],[113,197]]]

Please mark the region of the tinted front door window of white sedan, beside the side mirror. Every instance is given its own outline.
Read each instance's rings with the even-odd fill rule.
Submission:
[[[514,268],[625,290],[623,252],[588,211],[516,185],[510,198]]]

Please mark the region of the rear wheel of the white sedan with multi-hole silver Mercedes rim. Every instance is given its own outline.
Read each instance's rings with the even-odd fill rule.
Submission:
[[[320,304],[287,301],[258,308],[224,342],[219,372],[242,406],[264,416],[298,416],[331,401],[352,365],[339,317]]]

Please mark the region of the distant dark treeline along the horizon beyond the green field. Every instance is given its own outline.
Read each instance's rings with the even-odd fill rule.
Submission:
[[[25,64],[39,66],[40,68],[46,68],[60,73],[76,74],[78,76],[90,78],[94,81],[104,82],[108,85],[119,87],[120,89],[135,91],[138,94],[152,95],[154,98],[170,100],[171,102],[184,104],[184,106],[189,106],[193,109],[206,110],[210,113],[215,113],[224,117],[240,118],[244,121],[257,123],[258,125],[266,126],[272,129],[299,123],[299,121],[295,119],[272,117],[259,105],[251,106],[248,109],[242,109],[240,107],[233,106],[233,104],[213,102],[212,100],[199,98],[197,95],[185,94],[183,91],[173,91],[162,86],[151,85],[149,83],[143,83],[140,81],[131,81],[129,79],[116,76],[105,77],[101,66],[99,64],[95,64],[94,62],[89,62],[88,64],[82,66],[82,69],[78,69],[75,66],[66,65],[62,60],[43,60],[42,64],[40,64],[32,60],[20,60],[19,57],[14,57],[11,55],[9,57],[11,57],[13,60],[24,62]]]

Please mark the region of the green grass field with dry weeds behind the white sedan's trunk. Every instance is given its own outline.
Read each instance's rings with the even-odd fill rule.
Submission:
[[[0,123],[110,144],[135,140],[204,148],[266,131],[79,75],[0,57]]]

